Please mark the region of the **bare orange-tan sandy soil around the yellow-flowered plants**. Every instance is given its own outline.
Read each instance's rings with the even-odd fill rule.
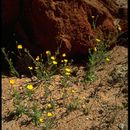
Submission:
[[[60,77],[54,76],[50,91],[52,99],[56,100],[59,106],[54,112],[57,121],[52,130],[128,130],[128,48],[116,46],[110,54],[110,62],[97,68],[95,82],[71,84],[68,88],[68,93],[75,90],[74,95],[81,101],[80,109],[69,114],[66,114],[66,108],[62,104],[71,102],[70,99],[74,95],[70,93],[69,98],[63,102],[60,98],[63,90],[58,86]],[[79,67],[79,78],[83,73],[82,68]],[[13,87],[19,92],[22,92],[23,86],[30,81],[30,78],[2,77],[2,130],[41,130],[32,122],[20,125],[21,121],[28,119],[25,115],[18,120],[9,117],[9,113],[14,110],[10,79],[15,79]],[[40,107],[42,96],[41,83],[34,94]],[[88,108],[87,114],[82,111],[84,106]]]

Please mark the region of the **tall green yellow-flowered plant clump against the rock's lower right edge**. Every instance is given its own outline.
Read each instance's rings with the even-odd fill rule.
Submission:
[[[84,81],[94,81],[96,79],[96,68],[109,60],[106,44],[100,39],[96,39],[96,41],[97,46],[93,49],[89,49],[87,71],[84,77]]]

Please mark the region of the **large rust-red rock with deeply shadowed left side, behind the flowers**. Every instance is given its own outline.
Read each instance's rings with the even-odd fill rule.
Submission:
[[[93,28],[92,16],[99,16],[97,30],[115,31],[112,15],[99,0],[23,0],[22,3],[16,31],[37,52],[54,52],[61,46],[61,52],[86,54],[99,35]],[[13,11],[10,14],[15,15]]]

